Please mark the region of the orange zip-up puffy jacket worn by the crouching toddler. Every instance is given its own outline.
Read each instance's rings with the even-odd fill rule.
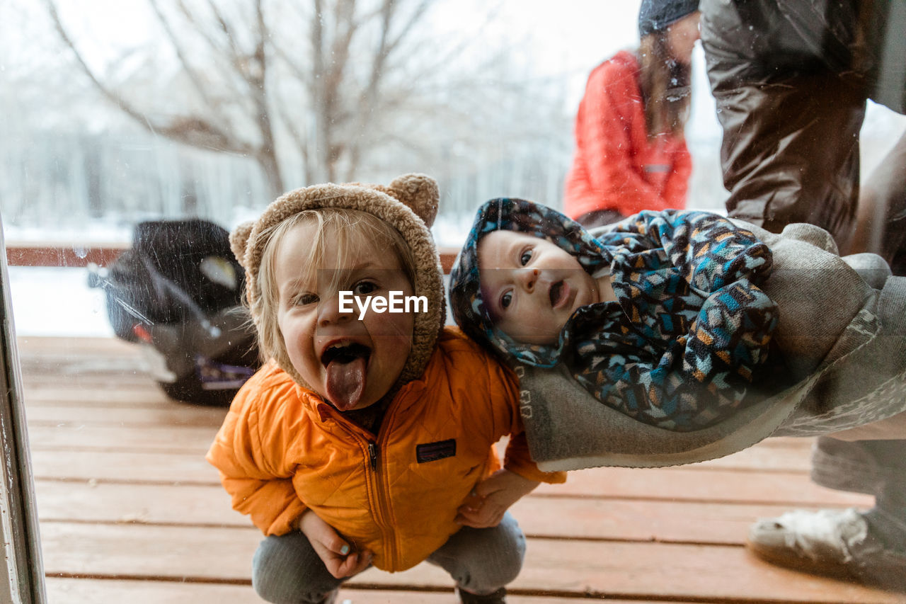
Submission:
[[[210,450],[237,511],[268,535],[308,508],[381,570],[406,570],[461,528],[457,508],[499,468],[564,482],[537,469],[519,415],[516,376],[455,327],[425,372],[393,398],[377,436],[296,385],[275,364],[246,382]]]

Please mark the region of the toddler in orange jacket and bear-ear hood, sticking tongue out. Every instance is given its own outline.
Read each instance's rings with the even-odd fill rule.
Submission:
[[[506,510],[564,481],[531,461],[515,375],[444,327],[438,197],[421,175],[316,185],[231,235],[273,360],[236,395],[207,460],[265,532],[253,585],[268,601],[329,602],[371,565],[422,560],[464,602],[505,601],[525,551]]]

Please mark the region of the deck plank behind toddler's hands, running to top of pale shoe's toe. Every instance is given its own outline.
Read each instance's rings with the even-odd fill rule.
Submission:
[[[256,531],[214,486],[37,481],[39,518],[223,526]],[[526,534],[560,539],[742,545],[749,525],[786,511],[781,505],[645,502],[528,496],[513,513]]]

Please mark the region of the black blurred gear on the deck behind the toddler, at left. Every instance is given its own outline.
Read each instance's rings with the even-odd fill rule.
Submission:
[[[260,365],[228,236],[201,219],[140,222],[132,247],[89,274],[116,336],[141,346],[150,374],[179,401],[229,404]]]

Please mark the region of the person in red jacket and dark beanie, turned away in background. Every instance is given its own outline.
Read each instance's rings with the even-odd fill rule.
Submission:
[[[692,161],[689,114],[699,0],[642,0],[638,53],[595,67],[575,118],[564,213],[586,228],[642,209],[682,209]]]

